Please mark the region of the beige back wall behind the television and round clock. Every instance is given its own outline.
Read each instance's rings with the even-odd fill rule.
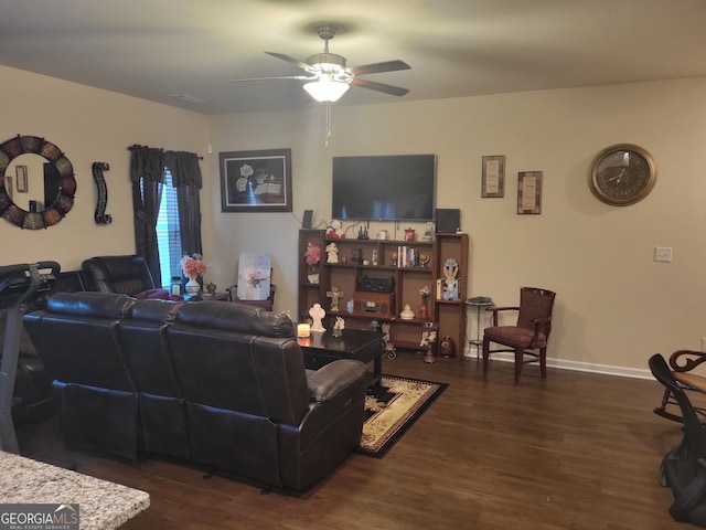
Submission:
[[[706,337],[704,93],[706,78],[697,78],[341,106],[329,149],[321,107],[220,116],[212,120],[214,157],[292,149],[295,211],[214,211],[216,248],[227,255],[223,263],[242,250],[271,252],[284,286],[277,307],[293,310],[297,229],[304,209],[318,209],[314,222],[330,220],[331,157],[434,152],[437,205],[460,208],[471,237],[470,294],[514,305],[522,285],[556,290],[548,353],[555,363],[646,374],[650,354],[697,349]],[[659,166],[654,190],[632,206],[608,206],[587,186],[593,156],[618,142],[644,147]],[[480,197],[483,155],[506,156],[503,199]],[[541,215],[515,213],[517,172],[527,170],[544,172]],[[220,191],[213,193],[217,202]],[[673,247],[673,262],[655,263],[655,246]]]

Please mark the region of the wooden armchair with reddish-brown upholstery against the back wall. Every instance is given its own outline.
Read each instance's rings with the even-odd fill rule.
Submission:
[[[537,287],[520,289],[520,306],[489,307],[492,326],[483,333],[483,374],[488,374],[490,356],[500,352],[515,353],[515,384],[520,383],[522,367],[539,361],[542,379],[547,377],[547,341],[552,331],[552,309],[556,293]],[[517,311],[515,326],[499,326],[501,311]],[[502,348],[492,349],[491,343]]]

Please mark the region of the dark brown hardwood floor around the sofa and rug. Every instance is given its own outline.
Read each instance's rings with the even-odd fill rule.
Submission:
[[[648,357],[645,356],[645,368]],[[148,491],[128,529],[670,530],[672,494],[657,483],[681,438],[652,413],[656,381],[475,359],[426,364],[415,353],[383,371],[450,383],[382,459],[352,455],[303,495],[161,459],[138,464],[66,451],[55,418],[19,430],[24,456]],[[218,433],[214,433],[217,436]]]

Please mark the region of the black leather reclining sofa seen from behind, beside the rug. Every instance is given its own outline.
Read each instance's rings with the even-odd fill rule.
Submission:
[[[286,315],[85,292],[52,296],[24,324],[54,378],[66,445],[302,490],[360,442],[365,367],[306,370]]]

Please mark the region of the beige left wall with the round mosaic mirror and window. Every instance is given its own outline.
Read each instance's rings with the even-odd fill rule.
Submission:
[[[0,264],[54,259],[64,271],[86,257],[135,253],[130,152],[135,144],[205,156],[205,116],[111,92],[0,66],[0,141],[15,135],[40,136],[71,160],[76,178],[74,208],[47,230],[20,230],[0,220]],[[94,222],[93,162],[108,162],[109,225]],[[202,166],[208,172],[207,160]],[[211,209],[205,194],[206,208]],[[204,232],[207,233],[208,229]]]

